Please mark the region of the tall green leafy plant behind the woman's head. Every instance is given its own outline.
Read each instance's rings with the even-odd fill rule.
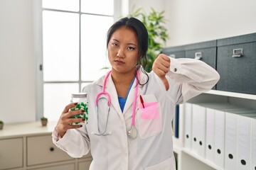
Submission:
[[[135,10],[133,6],[132,13],[129,14],[129,16],[138,18],[142,21],[148,31],[149,47],[146,54],[147,64],[145,69],[146,72],[150,72],[154,60],[163,49],[166,40],[169,38],[167,29],[164,26],[164,23],[166,22],[164,11],[156,12],[154,11],[154,8],[151,8],[151,11],[147,15],[142,11],[142,8]]]

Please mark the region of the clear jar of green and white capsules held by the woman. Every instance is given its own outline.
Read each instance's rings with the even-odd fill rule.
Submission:
[[[88,123],[88,101],[86,93],[71,94],[71,103],[78,103],[71,111],[84,110],[84,113],[73,115],[71,118],[84,118],[84,122],[70,123],[70,125],[86,125]]]

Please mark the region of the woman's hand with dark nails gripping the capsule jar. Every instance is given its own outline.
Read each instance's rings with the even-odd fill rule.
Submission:
[[[83,118],[71,118],[73,115],[78,115],[84,113],[83,110],[70,111],[71,108],[74,108],[78,103],[70,103],[65,106],[63,113],[61,113],[58,123],[55,127],[60,137],[65,135],[68,129],[76,129],[81,128],[82,125],[70,125],[70,123],[83,122],[85,119]]]

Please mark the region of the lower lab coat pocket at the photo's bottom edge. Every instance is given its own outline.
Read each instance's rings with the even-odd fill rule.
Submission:
[[[145,170],[175,170],[175,166],[176,165],[174,157],[170,157],[169,159],[166,159],[164,162],[160,162],[159,164],[146,167]]]

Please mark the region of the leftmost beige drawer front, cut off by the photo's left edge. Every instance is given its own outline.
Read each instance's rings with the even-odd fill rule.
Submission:
[[[0,169],[21,168],[22,166],[22,137],[0,140]]]

